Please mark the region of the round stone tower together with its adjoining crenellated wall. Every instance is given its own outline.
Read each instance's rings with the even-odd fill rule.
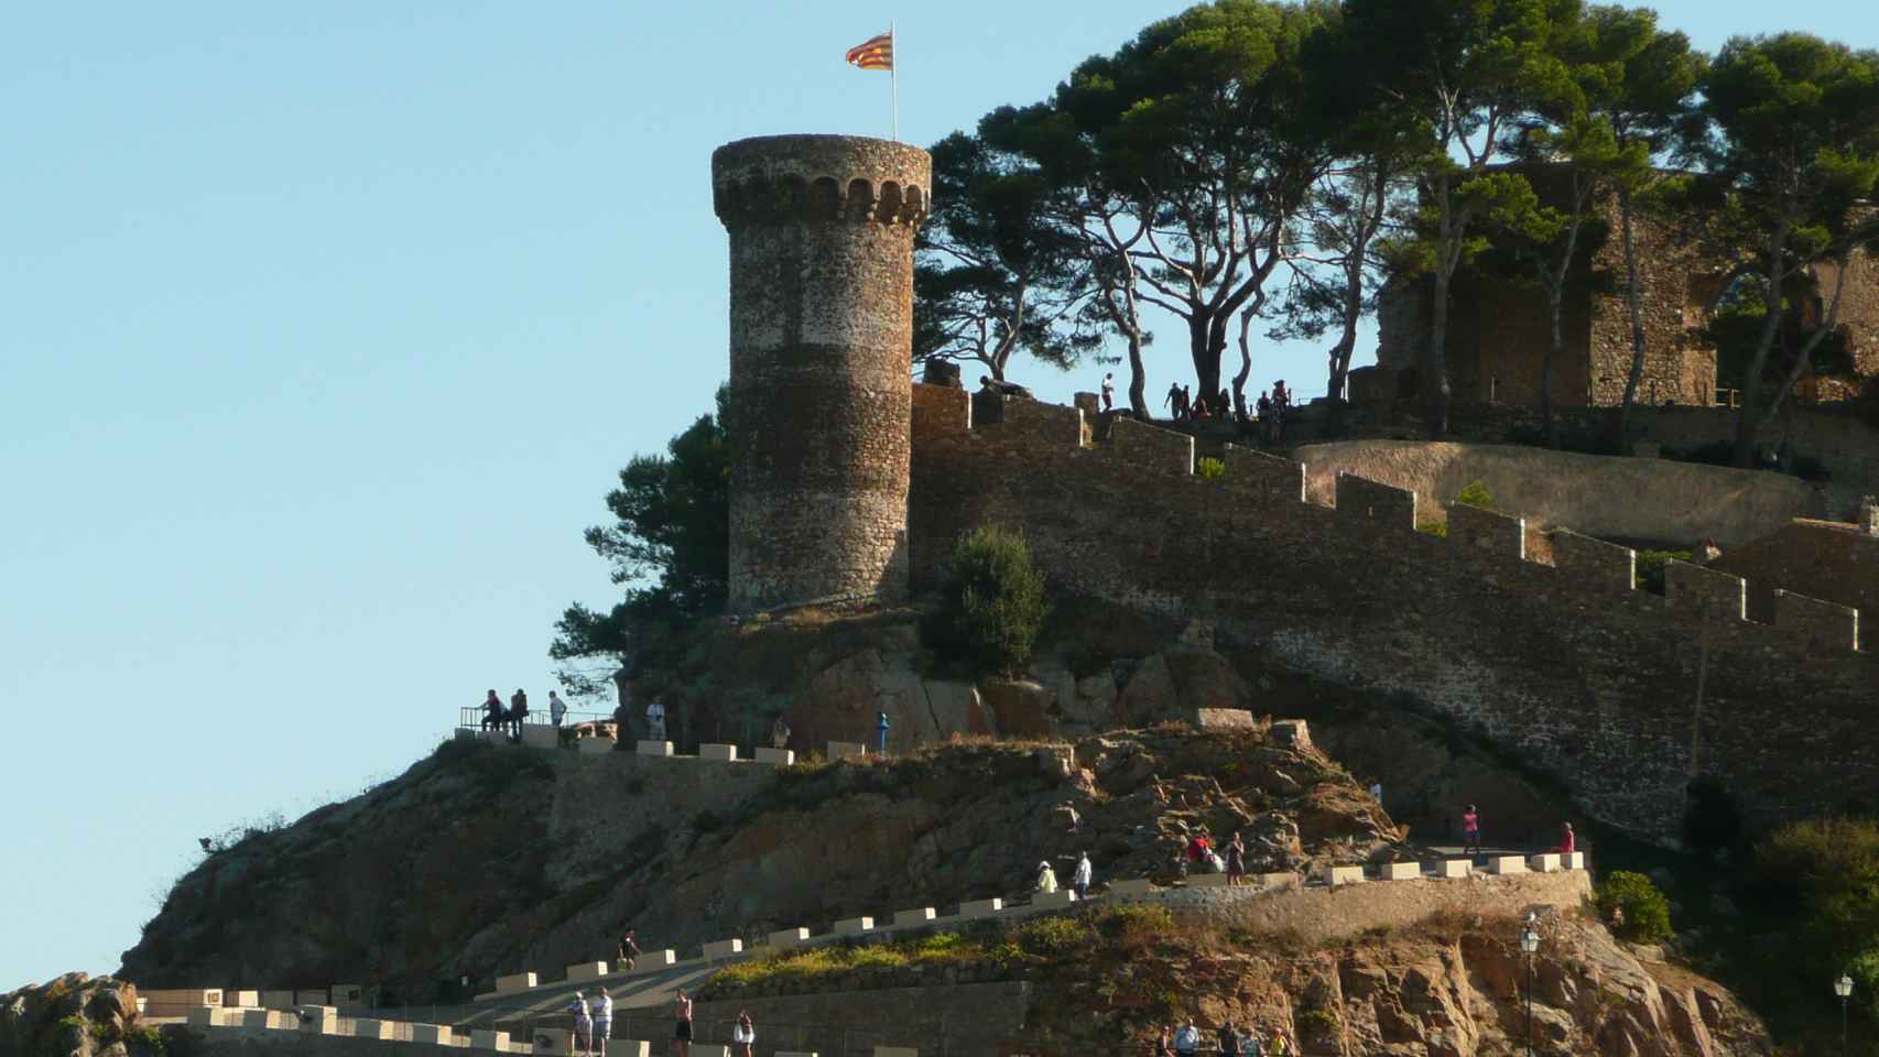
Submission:
[[[763,137],[712,158],[731,237],[731,606],[898,601],[936,586],[981,524],[1024,529],[1052,590],[1172,620],[1274,665],[1389,691],[1558,775],[1593,817],[1672,839],[1695,775],[1751,822],[1879,800],[1879,663],[1858,612],[1449,509],[1353,475],[1306,501],[1306,467],[1122,415],[1011,400],[975,422],[960,389],[911,385],[913,231],[924,152]],[[1870,516],[1870,513],[1868,513]],[[1879,552],[1879,537],[1851,543]]]

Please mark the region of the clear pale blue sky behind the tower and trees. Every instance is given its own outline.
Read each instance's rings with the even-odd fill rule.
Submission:
[[[902,11],[902,137],[1178,8]],[[1879,45],[1866,0],[1659,8],[1706,47],[1783,19]],[[9,11],[0,991],[113,971],[195,837],[400,772],[487,687],[547,698],[554,618],[611,593],[581,529],[725,375],[710,150],[885,135],[887,75],[842,64],[877,11]],[[1186,377],[1161,330],[1150,392]],[[1315,347],[1261,357],[1323,391]]]

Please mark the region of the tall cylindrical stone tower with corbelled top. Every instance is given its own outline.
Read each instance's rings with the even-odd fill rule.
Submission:
[[[731,610],[908,590],[913,229],[932,160],[853,135],[720,146],[731,233]]]

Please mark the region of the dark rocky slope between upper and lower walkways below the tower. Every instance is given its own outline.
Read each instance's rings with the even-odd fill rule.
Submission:
[[[1075,824],[1073,824],[1075,819]],[[1265,727],[1157,727],[1075,745],[962,742],[795,768],[445,743],[404,775],[184,875],[122,974],[145,986],[443,982],[607,957],[618,927],[684,948],[896,907],[1026,892],[1088,850],[1167,875],[1189,832],[1240,830],[1250,869],[1362,860],[1389,817]],[[648,944],[648,946],[650,946]]]

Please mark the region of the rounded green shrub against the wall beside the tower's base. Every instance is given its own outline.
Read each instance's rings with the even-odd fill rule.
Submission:
[[[1022,674],[1043,631],[1045,578],[1024,533],[986,526],[953,552],[941,610],[940,651],[979,674]]]

